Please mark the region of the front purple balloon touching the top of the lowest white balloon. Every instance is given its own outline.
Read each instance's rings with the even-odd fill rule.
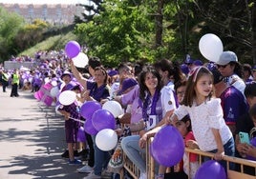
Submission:
[[[116,119],[107,109],[98,109],[92,117],[92,123],[97,131],[101,129],[115,129]]]

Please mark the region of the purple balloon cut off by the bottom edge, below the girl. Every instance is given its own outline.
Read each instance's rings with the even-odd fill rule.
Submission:
[[[197,170],[197,179],[226,179],[224,168],[215,160],[208,160]]]

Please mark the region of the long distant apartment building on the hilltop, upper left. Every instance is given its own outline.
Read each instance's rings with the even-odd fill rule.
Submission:
[[[28,23],[34,19],[42,19],[53,25],[69,25],[74,22],[75,15],[81,16],[82,7],[67,4],[3,4],[0,7],[23,16]]]

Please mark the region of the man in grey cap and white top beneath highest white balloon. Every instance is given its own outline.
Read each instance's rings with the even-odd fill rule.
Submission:
[[[224,76],[224,83],[234,86],[242,93],[245,90],[245,82],[242,79],[242,66],[238,62],[236,53],[224,51],[216,62],[218,70]]]

